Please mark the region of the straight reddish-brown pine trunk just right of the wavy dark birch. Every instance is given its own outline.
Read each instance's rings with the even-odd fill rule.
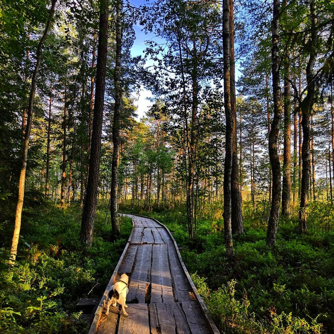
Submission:
[[[288,58],[288,56],[287,56]],[[290,70],[288,59],[284,62],[284,146],[283,146],[283,183],[282,215],[290,216],[291,200],[291,113],[290,113]]]

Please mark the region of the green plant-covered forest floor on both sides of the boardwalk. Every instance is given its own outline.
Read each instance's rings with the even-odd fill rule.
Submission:
[[[334,333],[334,232],[331,210],[310,210],[309,234],[299,236],[297,220],[281,221],[277,245],[266,247],[267,225],[244,204],[245,233],[234,237],[236,259],[226,261],[223,221],[211,208],[197,219],[196,238],[187,237],[183,209],[144,212],[165,224],[221,333]],[[85,333],[75,304],[100,297],[119,260],[118,249],[131,232],[121,218],[122,235],[110,242],[106,206],[96,214],[93,247],[78,241],[79,206],[51,203],[24,212],[17,263],[7,267],[12,222],[0,226],[0,332]],[[214,214],[213,214],[214,213]]]

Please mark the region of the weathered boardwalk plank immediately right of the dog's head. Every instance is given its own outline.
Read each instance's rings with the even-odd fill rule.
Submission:
[[[136,264],[130,278],[127,301],[145,303],[145,293],[151,279],[152,245],[138,245]]]

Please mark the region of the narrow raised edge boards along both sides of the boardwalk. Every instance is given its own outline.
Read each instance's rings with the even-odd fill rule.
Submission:
[[[196,287],[195,287],[195,285],[194,285],[194,283],[193,283],[193,281],[192,281],[192,279],[191,279],[191,277],[190,277],[190,275],[189,275],[189,273],[187,271],[187,268],[186,268],[185,264],[183,263],[183,260],[182,260],[179,248],[178,248],[178,246],[176,244],[176,241],[175,241],[172,233],[170,232],[170,230],[164,224],[162,224],[160,221],[158,221],[157,219],[155,219],[153,217],[143,216],[143,215],[139,215],[139,214],[136,214],[136,213],[126,213],[126,212],[119,212],[119,214],[120,215],[123,215],[123,214],[127,215],[127,214],[129,214],[129,215],[134,215],[134,216],[138,216],[138,217],[142,217],[142,218],[152,219],[156,223],[158,223],[159,225],[161,225],[162,227],[165,228],[165,230],[167,231],[167,233],[169,234],[170,238],[173,241],[173,244],[175,246],[175,250],[176,250],[177,256],[179,258],[179,261],[181,263],[181,266],[182,266],[182,269],[184,271],[184,274],[186,275],[186,278],[187,278],[187,280],[188,280],[188,282],[190,284],[191,290],[192,290],[192,292],[194,293],[194,295],[196,297],[196,300],[197,300],[197,302],[198,302],[198,304],[200,306],[200,310],[201,310],[202,314],[204,315],[204,318],[205,318],[205,320],[207,322],[207,325],[208,325],[211,333],[212,334],[220,334],[219,331],[218,331],[218,329],[217,329],[217,327],[216,327],[216,325],[214,324],[214,322],[213,322],[210,314],[209,314],[209,311],[208,311],[208,309],[207,309],[207,307],[206,307],[206,305],[205,305],[202,297],[198,293],[198,291],[197,291],[197,289],[196,289]],[[132,220],[132,225],[134,226],[133,220]],[[117,275],[118,269],[119,269],[119,267],[120,267],[120,265],[121,265],[121,263],[122,263],[122,261],[124,259],[126,251],[129,248],[130,240],[131,240],[133,231],[134,231],[134,228],[131,231],[131,234],[129,236],[127,244],[126,244],[126,246],[124,248],[124,251],[123,251],[123,253],[122,253],[121,257],[120,257],[120,260],[118,261],[118,264],[115,267],[114,273],[113,273],[113,275],[112,275],[112,277],[111,277],[111,279],[110,279],[110,281],[109,281],[109,283],[107,285],[107,288],[106,288],[106,290],[105,290],[105,292],[104,292],[104,294],[103,294],[103,296],[101,298],[101,301],[100,301],[99,306],[98,306],[98,308],[97,308],[97,310],[95,312],[94,319],[93,319],[93,322],[92,322],[92,325],[90,327],[90,330],[89,330],[88,334],[95,334],[95,332],[96,332],[96,330],[97,330],[97,328],[99,326],[99,322],[100,322],[100,318],[101,318],[101,315],[102,315],[102,311],[103,311],[103,309],[104,309],[104,307],[106,305],[106,299],[107,299],[107,295],[108,295],[109,289],[114,284],[114,281],[116,279],[116,275]]]

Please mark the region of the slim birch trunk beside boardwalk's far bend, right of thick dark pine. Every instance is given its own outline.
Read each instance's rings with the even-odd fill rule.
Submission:
[[[121,16],[122,16],[122,0],[116,2],[116,64],[114,71],[115,85],[115,109],[113,120],[113,161],[111,175],[111,202],[110,215],[113,236],[118,236],[121,233],[120,223],[118,221],[118,162],[120,155],[120,121],[121,121],[121,103],[122,103],[122,87],[120,80],[121,71],[121,55],[122,55],[122,31],[121,31]]]

